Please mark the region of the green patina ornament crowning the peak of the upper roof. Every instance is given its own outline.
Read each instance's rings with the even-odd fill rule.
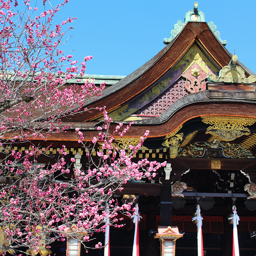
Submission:
[[[171,31],[170,38],[163,39],[164,44],[169,44],[184,28],[187,22],[205,22],[204,13],[198,10],[198,2],[194,3],[193,10],[190,10],[185,15],[184,23],[181,20],[178,20],[177,23],[173,26],[173,30]],[[227,44],[227,40],[221,40],[221,34],[217,31],[217,26],[213,24],[213,22],[209,22],[208,26],[214,33],[215,37],[225,46]]]

